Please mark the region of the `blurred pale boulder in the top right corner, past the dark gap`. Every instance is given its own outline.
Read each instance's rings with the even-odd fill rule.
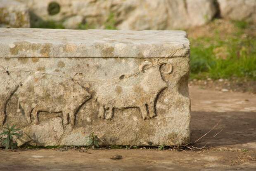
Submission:
[[[256,23],[256,0],[218,0],[218,4],[223,18]]]

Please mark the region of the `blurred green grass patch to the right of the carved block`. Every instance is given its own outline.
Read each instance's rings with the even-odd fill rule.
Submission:
[[[190,39],[192,79],[249,78],[256,80],[256,37],[244,37],[245,22],[234,22],[237,32],[221,37]]]

